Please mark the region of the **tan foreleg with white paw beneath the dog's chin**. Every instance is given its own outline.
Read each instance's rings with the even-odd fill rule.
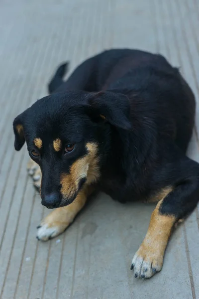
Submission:
[[[64,232],[83,208],[88,196],[93,191],[92,186],[85,186],[71,204],[52,211],[37,227],[37,239],[47,241]]]

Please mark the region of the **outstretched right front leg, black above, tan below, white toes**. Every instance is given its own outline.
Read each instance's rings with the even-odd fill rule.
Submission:
[[[132,260],[131,269],[134,269],[137,278],[149,278],[161,270],[174,224],[197,206],[199,165],[190,160],[184,170],[187,170],[187,176],[173,186],[173,190],[159,201],[152,213],[148,232]]]

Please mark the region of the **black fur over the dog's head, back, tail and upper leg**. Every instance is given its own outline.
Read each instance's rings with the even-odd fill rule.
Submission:
[[[98,143],[97,187],[121,202],[148,199],[162,188],[173,191],[160,212],[185,217],[199,200],[199,164],[186,156],[195,117],[195,98],[177,68],[161,55],[108,50],[79,65],[67,81],[61,66],[45,97],[14,120],[22,124],[28,150],[43,141],[41,192],[59,186],[61,172]],[[103,120],[100,115],[105,117]],[[77,144],[64,157],[52,139]],[[24,139],[16,134],[15,149]]]

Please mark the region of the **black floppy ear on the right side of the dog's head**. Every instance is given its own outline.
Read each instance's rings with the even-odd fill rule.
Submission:
[[[89,96],[91,112],[108,121],[111,125],[131,130],[130,101],[127,96],[114,92],[94,93]]]

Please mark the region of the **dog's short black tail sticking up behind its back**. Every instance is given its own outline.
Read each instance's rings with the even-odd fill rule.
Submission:
[[[63,77],[68,70],[68,66],[69,66],[69,62],[65,62],[58,67],[54,76],[50,80],[50,83],[48,84],[49,94],[53,93],[64,82]]]

